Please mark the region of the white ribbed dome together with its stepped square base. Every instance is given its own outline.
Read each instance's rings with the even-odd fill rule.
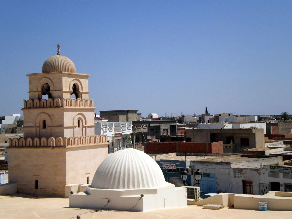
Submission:
[[[133,148],[108,156],[85,192],[70,194],[72,208],[150,211],[187,207],[186,188],[167,183],[158,164]]]

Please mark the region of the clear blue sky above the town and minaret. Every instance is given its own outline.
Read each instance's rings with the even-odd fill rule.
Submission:
[[[292,114],[291,1],[2,1],[0,27],[0,116],[57,44],[97,114]]]

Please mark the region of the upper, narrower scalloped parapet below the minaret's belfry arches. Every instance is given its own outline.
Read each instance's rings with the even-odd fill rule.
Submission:
[[[38,107],[93,107],[93,99],[74,99],[74,98],[55,98],[55,99],[35,99],[23,100],[23,108],[38,108]]]

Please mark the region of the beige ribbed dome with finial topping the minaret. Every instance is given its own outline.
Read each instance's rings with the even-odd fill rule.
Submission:
[[[76,73],[76,68],[71,59],[60,55],[60,44],[58,44],[57,55],[48,58],[41,69],[42,73],[49,72],[70,72]]]

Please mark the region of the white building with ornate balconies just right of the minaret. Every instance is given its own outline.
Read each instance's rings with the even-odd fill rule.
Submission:
[[[108,153],[127,147],[133,147],[131,133],[132,122],[107,122],[107,119],[95,117],[95,134],[107,135]]]

